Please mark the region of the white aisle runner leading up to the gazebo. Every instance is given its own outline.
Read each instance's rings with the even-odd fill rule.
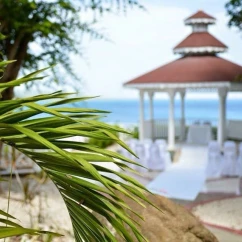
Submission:
[[[156,194],[182,200],[194,200],[205,183],[207,146],[181,145],[177,163],[158,175],[147,188]]]

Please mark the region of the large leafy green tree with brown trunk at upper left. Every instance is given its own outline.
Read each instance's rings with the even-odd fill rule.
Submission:
[[[142,8],[136,0],[0,0],[0,52],[6,60],[17,60],[5,74],[7,81],[10,74],[16,78],[21,67],[29,71],[41,68],[43,62],[60,63],[58,69],[52,69],[56,81],[65,83],[60,77],[71,75],[68,85],[79,89],[74,83],[78,76],[71,67],[71,54],[82,55],[86,35],[105,38],[95,27],[103,14],[134,6]],[[87,14],[93,17],[87,20]]]

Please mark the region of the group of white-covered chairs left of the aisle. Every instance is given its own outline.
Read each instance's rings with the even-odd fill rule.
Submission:
[[[143,141],[131,139],[127,144],[139,158],[136,158],[125,149],[120,150],[121,154],[140,163],[148,170],[165,170],[171,164],[170,154],[166,150],[167,144],[163,139],[158,139],[155,142],[151,139],[145,139]],[[131,168],[140,172],[148,171],[135,165],[131,166]]]

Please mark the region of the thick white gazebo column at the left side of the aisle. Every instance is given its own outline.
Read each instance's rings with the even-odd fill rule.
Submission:
[[[168,149],[175,149],[175,115],[174,115],[174,98],[176,91],[175,89],[169,89],[169,124],[168,124]]]

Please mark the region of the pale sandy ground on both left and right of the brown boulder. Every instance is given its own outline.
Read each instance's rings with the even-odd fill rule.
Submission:
[[[143,183],[148,183],[156,175],[156,173],[151,172],[146,174],[146,176],[136,178]],[[208,187],[213,187],[213,184],[211,182],[209,183],[210,185],[208,185]],[[4,193],[0,198],[0,209],[6,211],[8,203],[6,183],[2,185],[2,189]],[[24,201],[24,193],[20,191],[19,183],[16,179],[13,179],[12,190],[9,211],[19,219],[22,225],[43,230],[58,231],[58,233],[64,235],[62,238],[54,238],[54,242],[73,241],[68,211],[58,190],[51,181],[46,182],[35,191],[33,200],[30,203]],[[242,231],[242,198],[235,197],[234,195],[231,198],[231,196],[232,194],[230,193],[200,193],[193,202],[174,201],[186,206],[195,216],[205,223]],[[213,201],[209,202],[211,200]],[[211,227],[211,230],[215,231],[215,235],[217,233],[218,236],[221,236],[221,233],[223,233],[222,231],[228,233],[226,230],[215,229],[213,227]],[[238,236],[240,238],[236,233],[233,234],[229,232],[229,235],[234,237]],[[25,239],[26,240],[23,241],[26,242],[41,241],[35,240],[37,238],[28,240],[26,237]],[[22,240],[9,239],[7,241],[15,242]]]

